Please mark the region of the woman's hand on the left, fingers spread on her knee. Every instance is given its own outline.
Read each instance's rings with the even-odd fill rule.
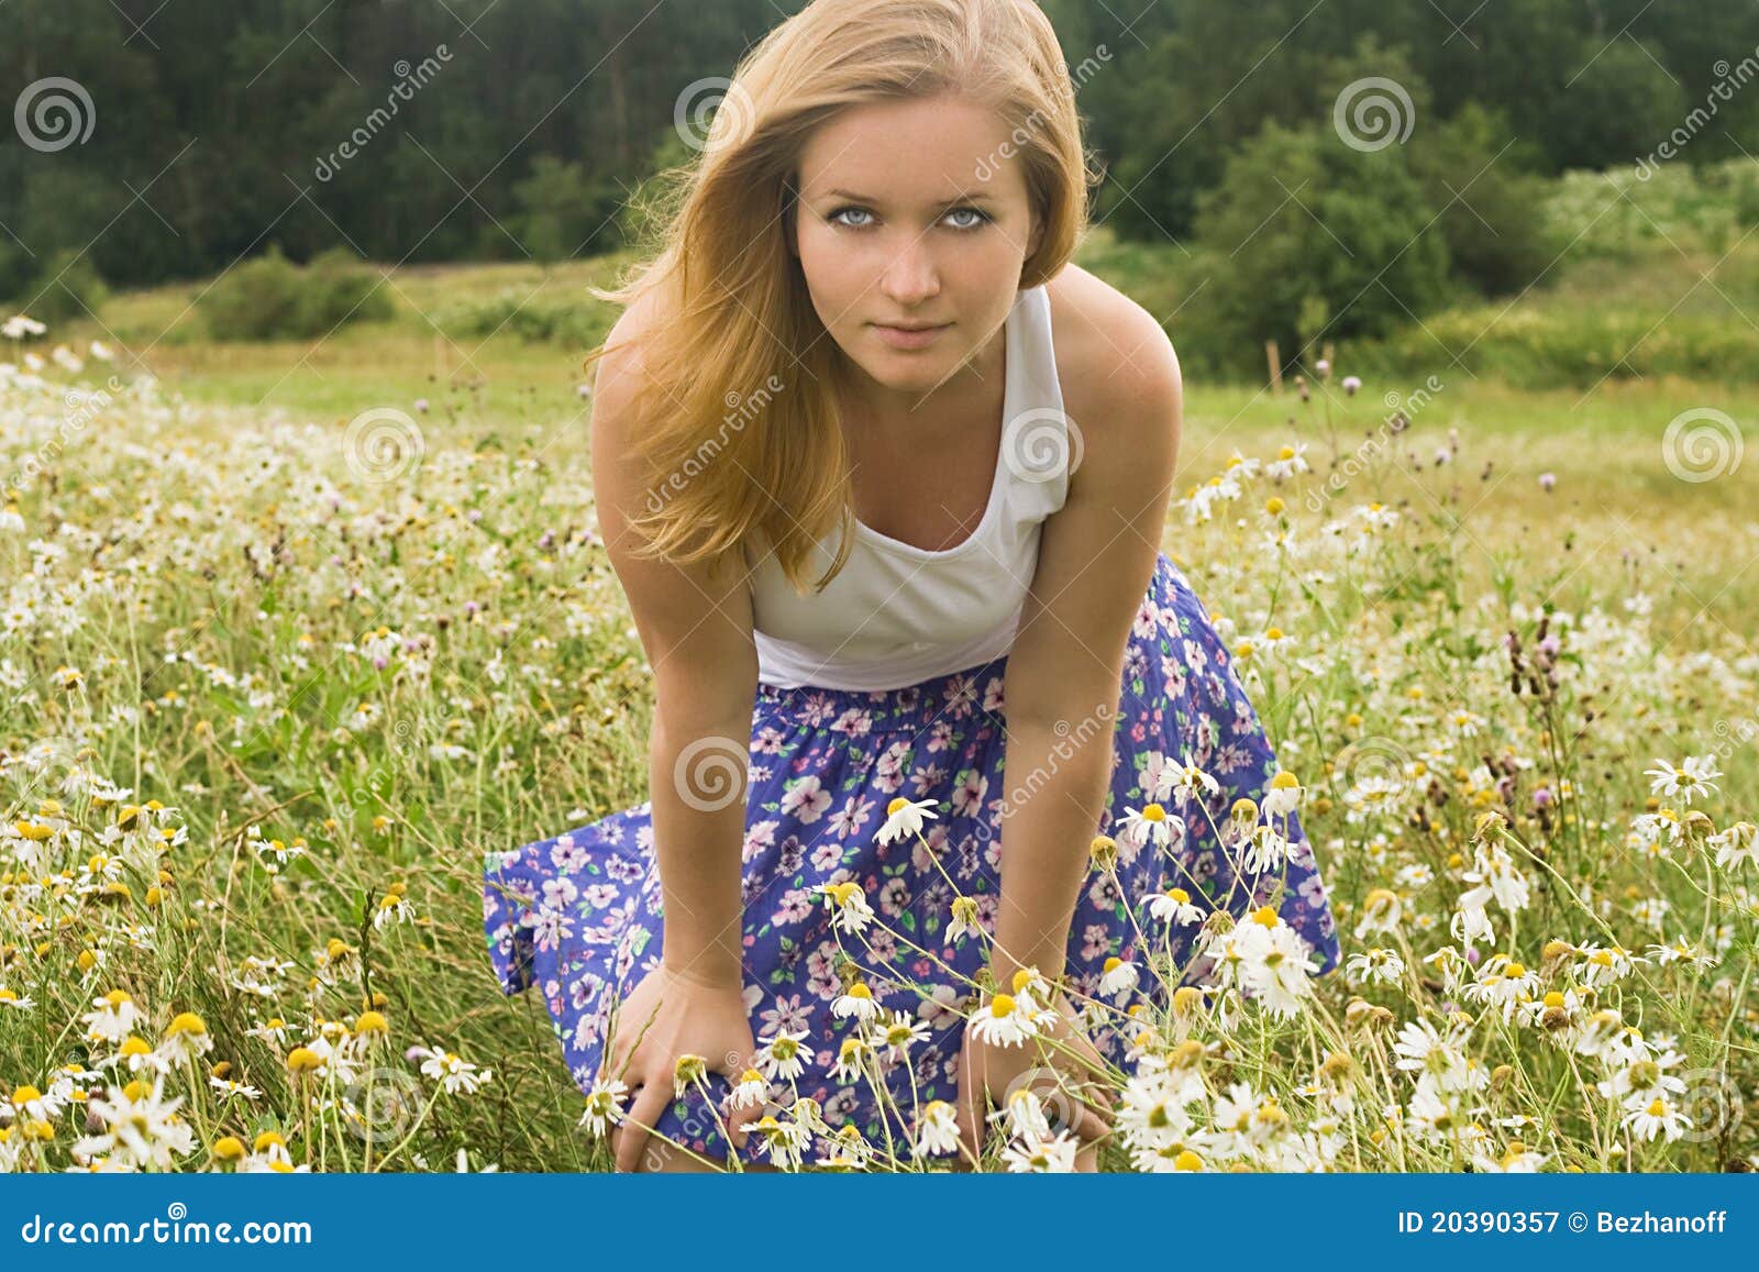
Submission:
[[[756,1059],[751,1017],[739,985],[661,964],[617,1006],[605,1040],[602,1073],[623,1080],[633,1100],[617,1131],[617,1170],[637,1170],[660,1114],[677,1098],[674,1070],[684,1054],[702,1056],[709,1070],[737,1084]],[[744,1147],[746,1126],[762,1115],[762,1105],[725,1114],[732,1144]]]

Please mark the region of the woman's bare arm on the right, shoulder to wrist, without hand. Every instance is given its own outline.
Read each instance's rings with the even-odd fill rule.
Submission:
[[[1154,575],[1179,452],[1179,359],[1131,306],[1110,327],[1124,357],[1105,403],[1084,406],[1084,461],[1041,531],[1038,570],[1008,654],[1006,809],[997,950],[1001,989],[1020,966],[1064,973],[1069,922],[1110,786],[1129,628]]]

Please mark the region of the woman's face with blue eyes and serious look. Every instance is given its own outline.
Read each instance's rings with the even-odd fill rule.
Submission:
[[[927,392],[989,345],[1038,232],[1018,144],[952,95],[821,125],[800,155],[793,229],[813,308],[881,398]]]

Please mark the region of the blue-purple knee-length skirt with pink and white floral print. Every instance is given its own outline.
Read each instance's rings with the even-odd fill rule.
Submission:
[[[760,684],[751,713],[744,839],[744,976],[751,1029],[762,1047],[779,1031],[806,1031],[806,1071],[769,1086],[769,1107],[811,1096],[832,1128],[855,1124],[865,1144],[911,1159],[916,1114],[957,1096],[964,1015],[987,964],[983,939],[946,938],[957,890],[976,901],[994,932],[999,894],[1006,753],[1006,656],[895,690],[774,688]],[[1119,707],[1112,718],[1113,769],[1096,834],[1119,843],[1113,871],[1087,874],[1069,927],[1064,975],[1073,994],[1099,998],[1105,961],[1187,955],[1196,924],[1154,920],[1145,904],[1184,888],[1203,911],[1244,915],[1275,903],[1312,947],[1314,975],[1339,962],[1325,885],[1298,815],[1286,829],[1288,860],[1245,874],[1244,844],[1228,827],[1235,800],[1258,802],[1279,765],[1252,704],[1184,572],[1163,552],[1129,633]],[[1120,834],[1126,809],[1143,809],[1166,765],[1186,760],[1219,790],[1164,802],[1171,839],[1138,844]],[[1013,779],[1011,786],[1022,783]],[[1163,786],[1164,790],[1164,786]],[[878,844],[895,797],[934,800],[920,839]],[[1071,846],[1084,852],[1085,844]],[[932,853],[932,857],[931,857]],[[818,885],[855,881],[874,911],[860,932],[832,929]],[[552,839],[487,853],[484,927],[503,992],[533,985],[544,996],[568,1068],[582,1091],[600,1077],[612,1006],[660,964],[661,892],[651,804],[639,804]],[[1143,948],[1149,947],[1149,948]],[[927,1036],[865,1077],[832,1075],[855,1019],[832,1015],[843,992],[839,962],[853,959],[881,1013],[904,1012]],[[1170,985],[1143,975],[1106,1003],[1166,1005]],[[1082,999],[1077,998],[1077,1005]],[[1128,1038],[1099,1024],[1087,1036],[1124,1068]],[[719,1108],[732,1091],[711,1071]],[[883,1098],[881,1098],[883,1093]],[[725,1115],[725,1112],[723,1112]],[[765,1161],[763,1137],[742,1149],[721,1135],[700,1091],[667,1107],[656,1131],[716,1161]],[[816,1159],[809,1152],[807,1161]]]

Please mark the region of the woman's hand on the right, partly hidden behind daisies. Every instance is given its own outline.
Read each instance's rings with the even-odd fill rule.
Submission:
[[[1084,1152],[1112,1131],[1115,1112],[1105,1091],[1105,1057],[1080,1033],[1068,996],[1057,994],[1052,1006],[1055,1022],[1013,1047],[987,1043],[966,1026],[953,1105],[962,1142],[959,1170],[974,1170],[983,1158],[990,1103],[1006,1107],[1008,1096],[1017,1091],[1036,1094],[1052,1137],[1066,1128]]]

